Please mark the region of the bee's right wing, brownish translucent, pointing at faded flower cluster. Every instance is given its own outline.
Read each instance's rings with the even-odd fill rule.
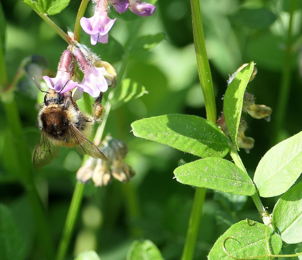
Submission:
[[[87,154],[91,156],[92,158],[100,158],[104,161],[107,161],[106,156],[98,149],[95,144],[90,142],[85,136],[82,135],[82,133],[75,127],[71,126],[70,131],[72,133],[72,137],[75,140],[75,149],[80,154]]]

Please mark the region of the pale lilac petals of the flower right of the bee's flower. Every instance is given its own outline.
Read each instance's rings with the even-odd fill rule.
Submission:
[[[98,97],[100,92],[108,89],[108,83],[104,77],[105,70],[105,67],[85,66],[84,78],[81,84],[78,84],[78,88],[94,98]]]

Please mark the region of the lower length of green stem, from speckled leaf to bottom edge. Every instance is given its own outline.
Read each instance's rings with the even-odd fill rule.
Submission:
[[[196,188],[181,260],[193,259],[205,195],[206,189]]]

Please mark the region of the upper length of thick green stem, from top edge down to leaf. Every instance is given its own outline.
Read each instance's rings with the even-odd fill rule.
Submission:
[[[197,61],[198,77],[204,94],[207,119],[216,123],[217,111],[214,88],[204,40],[204,29],[198,0],[191,0],[193,36]]]

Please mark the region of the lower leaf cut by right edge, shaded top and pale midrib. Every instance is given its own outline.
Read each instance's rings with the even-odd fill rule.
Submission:
[[[284,242],[302,242],[302,183],[295,185],[278,199],[272,221]]]

